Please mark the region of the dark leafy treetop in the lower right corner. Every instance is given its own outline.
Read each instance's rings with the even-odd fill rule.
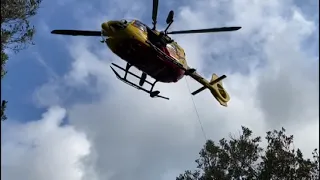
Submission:
[[[293,147],[293,136],[285,129],[267,132],[268,145],[260,147],[260,137],[242,127],[239,138],[221,139],[218,144],[208,140],[196,160],[197,170],[187,170],[176,180],[230,180],[230,179],[319,179],[318,150],[313,159],[304,159],[302,152]]]

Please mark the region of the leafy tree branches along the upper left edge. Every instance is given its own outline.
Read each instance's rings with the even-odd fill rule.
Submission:
[[[36,14],[40,3],[41,0],[1,0],[1,80],[8,60],[5,51],[17,53],[33,44],[35,28],[30,26],[29,19]],[[5,120],[7,101],[1,101],[1,120]]]

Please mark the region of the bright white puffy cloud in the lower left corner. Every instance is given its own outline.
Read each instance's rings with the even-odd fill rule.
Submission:
[[[65,115],[65,109],[53,107],[38,121],[4,122],[1,178],[81,180],[81,160],[90,153],[90,143],[84,133],[60,126]]]

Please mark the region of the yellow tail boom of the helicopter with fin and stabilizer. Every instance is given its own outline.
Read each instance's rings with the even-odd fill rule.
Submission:
[[[216,74],[212,74],[212,78],[209,81],[207,81],[205,78],[203,78],[201,75],[199,75],[197,72],[189,74],[194,80],[199,82],[203,85],[203,87],[199,88],[198,90],[192,92],[192,95],[196,95],[200,93],[201,91],[205,89],[209,89],[211,91],[211,94],[215,97],[215,99],[222,105],[227,107],[227,103],[230,100],[230,96],[227,93],[227,91],[223,88],[222,80],[225,79],[227,76],[222,75],[218,77]]]

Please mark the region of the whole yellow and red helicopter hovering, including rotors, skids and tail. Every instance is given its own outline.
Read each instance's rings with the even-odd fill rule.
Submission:
[[[192,95],[196,95],[205,89],[209,89],[215,99],[222,106],[227,107],[230,96],[222,85],[222,80],[227,76],[222,75],[218,77],[213,73],[211,80],[206,80],[197,73],[196,69],[187,65],[184,49],[169,35],[237,31],[241,29],[241,27],[221,27],[168,32],[169,27],[174,22],[174,11],[171,10],[166,19],[167,27],[164,31],[158,31],[156,29],[158,4],[159,0],[153,0],[152,28],[137,19],[131,21],[123,19],[103,22],[100,31],[53,30],[51,33],[101,37],[101,43],[106,43],[114,54],[127,62],[125,68],[115,63],[111,63],[111,70],[116,77],[128,85],[148,93],[152,98],[158,97],[169,100],[168,97],[160,95],[160,91],[153,90],[157,82],[176,83],[182,79],[183,76],[190,76],[202,84],[201,88],[191,93]],[[142,72],[140,76],[129,71],[132,66]],[[113,67],[124,71],[124,76],[121,77],[118,71]],[[139,84],[129,81],[127,79],[128,75],[132,75],[139,79]],[[151,83],[146,80],[147,76],[152,77],[155,81]],[[149,90],[143,87],[145,83],[151,86]]]

